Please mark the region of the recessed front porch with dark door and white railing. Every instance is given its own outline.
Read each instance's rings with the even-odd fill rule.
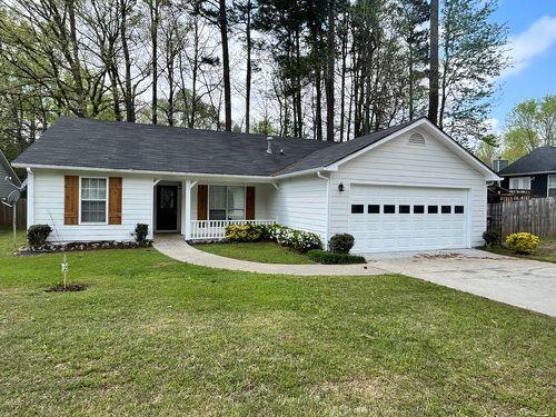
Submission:
[[[222,240],[229,225],[274,225],[268,206],[272,189],[268,183],[157,180],[153,230],[206,241]]]

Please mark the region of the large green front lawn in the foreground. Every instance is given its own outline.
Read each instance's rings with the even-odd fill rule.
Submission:
[[[0,232],[0,415],[554,415],[556,320],[403,276],[292,277]]]

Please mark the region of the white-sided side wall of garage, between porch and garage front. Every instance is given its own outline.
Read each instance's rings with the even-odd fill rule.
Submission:
[[[269,217],[280,225],[318,234],[326,240],[327,182],[316,175],[278,182],[268,196]]]

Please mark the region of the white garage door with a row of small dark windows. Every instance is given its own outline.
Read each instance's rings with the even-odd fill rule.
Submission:
[[[455,249],[467,246],[467,190],[351,185],[354,251]]]

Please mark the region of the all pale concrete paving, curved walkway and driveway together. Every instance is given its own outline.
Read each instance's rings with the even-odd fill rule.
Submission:
[[[198,250],[180,236],[162,236],[155,248],[170,258],[211,268],[259,274],[347,276],[401,274],[556,317],[556,264],[481,250],[368,255],[361,265],[280,265],[225,258]]]

